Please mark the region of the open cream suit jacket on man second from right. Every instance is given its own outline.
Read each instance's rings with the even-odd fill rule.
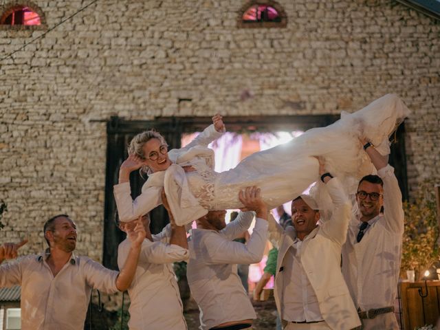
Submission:
[[[295,267],[295,261],[288,260],[293,257],[289,250],[295,246],[297,239],[294,227],[287,226],[283,230],[273,218],[269,219],[270,239],[278,246],[274,298],[278,313],[283,316],[283,326],[288,325],[285,329],[292,329],[293,324],[284,318],[295,320],[298,316],[295,313],[301,304],[307,308],[306,318],[316,316],[314,295],[316,295],[319,312],[322,316],[316,320],[324,320],[325,322],[322,323],[325,323],[325,326],[321,323],[319,325],[305,325],[306,329],[314,329],[316,325],[317,329],[318,327],[320,329],[329,327],[333,330],[349,330],[361,324],[340,270],[341,249],[347,239],[351,203],[338,177],[327,181],[325,187],[333,203],[331,217],[318,225],[318,228],[312,230],[301,242],[300,249],[296,250],[295,256],[300,256],[296,262],[301,264],[302,270],[300,267]],[[289,266],[289,263],[292,266]],[[289,289],[287,288],[289,284],[285,285],[285,282],[292,281],[292,271],[295,270],[299,274],[293,281],[298,281],[297,278],[302,278],[303,274],[307,276],[307,281],[299,280],[306,284],[305,287],[299,288],[301,293],[292,292],[294,287]],[[302,272],[304,273],[302,274]],[[311,287],[308,287],[309,283]],[[290,298],[287,297],[292,295],[297,295],[296,305],[292,304]],[[292,305],[294,305],[294,309],[290,309]],[[299,322],[303,321],[304,319],[299,320]],[[302,327],[302,325],[293,325],[293,329],[296,329],[297,326]]]

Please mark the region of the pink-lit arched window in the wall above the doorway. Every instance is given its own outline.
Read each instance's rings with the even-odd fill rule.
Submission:
[[[275,1],[251,1],[240,11],[241,28],[284,28],[286,25],[285,11]]]

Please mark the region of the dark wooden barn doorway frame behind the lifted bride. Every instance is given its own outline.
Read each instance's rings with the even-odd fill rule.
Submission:
[[[226,117],[225,125],[231,132],[272,132],[272,131],[307,131],[314,127],[327,126],[336,120],[338,115],[292,115],[292,116],[256,116],[256,117]],[[156,129],[164,135],[170,148],[179,148],[181,135],[203,131],[212,123],[210,117],[181,117],[181,118],[156,118],[155,120],[124,120],[112,117],[107,123],[107,170],[104,201],[104,266],[118,269],[118,245],[124,240],[125,235],[115,226],[116,205],[113,197],[113,185],[118,183],[118,170],[120,164],[126,159],[127,146],[134,135],[147,129]],[[406,179],[406,157],[404,145],[404,124],[399,126],[393,139],[397,143],[391,148],[390,163],[395,166],[396,175],[404,199],[408,197],[408,184]],[[140,195],[146,177],[139,173],[132,173],[130,177],[131,197]],[[168,223],[168,214],[162,206],[151,212],[151,232],[156,234]]]

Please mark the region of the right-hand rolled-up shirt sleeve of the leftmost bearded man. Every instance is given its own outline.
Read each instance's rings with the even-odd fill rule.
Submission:
[[[107,294],[119,291],[118,287],[116,287],[116,278],[118,278],[119,272],[109,270],[100,263],[83,257],[80,260],[80,267],[82,268],[86,283],[90,287]]]

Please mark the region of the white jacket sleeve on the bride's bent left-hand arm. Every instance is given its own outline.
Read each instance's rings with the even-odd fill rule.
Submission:
[[[131,198],[130,182],[115,184],[113,195],[115,196],[120,221],[135,220],[160,205],[162,203],[161,190],[162,187],[149,187],[133,200]]]

